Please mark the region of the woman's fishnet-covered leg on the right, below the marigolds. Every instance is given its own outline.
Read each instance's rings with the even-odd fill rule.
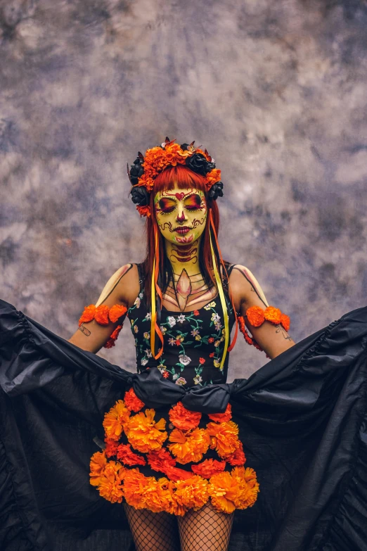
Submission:
[[[181,551],[227,551],[233,514],[218,513],[210,502],[177,517]]]

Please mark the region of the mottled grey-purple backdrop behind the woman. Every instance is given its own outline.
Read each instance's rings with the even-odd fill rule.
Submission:
[[[1,0],[1,298],[69,338],[143,258],[125,165],[168,136],[214,157],[222,251],[295,341],[366,305],[366,6]],[[99,354],[134,369],[128,324]],[[264,362],[241,338],[229,380]]]

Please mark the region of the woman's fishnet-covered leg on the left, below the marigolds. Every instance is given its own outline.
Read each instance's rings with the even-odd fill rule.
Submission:
[[[136,551],[180,551],[176,517],[123,503]]]

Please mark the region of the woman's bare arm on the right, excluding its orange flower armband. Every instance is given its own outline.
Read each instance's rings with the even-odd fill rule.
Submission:
[[[295,345],[295,341],[281,324],[273,324],[267,319],[259,327],[250,324],[246,316],[247,309],[251,306],[259,306],[265,310],[269,303],[259,282],[247,267],[236,264],[229,282],[237,312],[244,317],[245,325],[252,337],[271,359]]]

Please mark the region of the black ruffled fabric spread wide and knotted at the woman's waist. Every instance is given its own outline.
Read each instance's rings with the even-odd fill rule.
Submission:
[[[103,415],[134,386],[150,407],[231,402],[253,507],[229,551],[367,550],[367,307],[348,312],[249,379],[185,392],[132,374],[0,300],[1,551],[133,550],[121,505],[89,483]]]

